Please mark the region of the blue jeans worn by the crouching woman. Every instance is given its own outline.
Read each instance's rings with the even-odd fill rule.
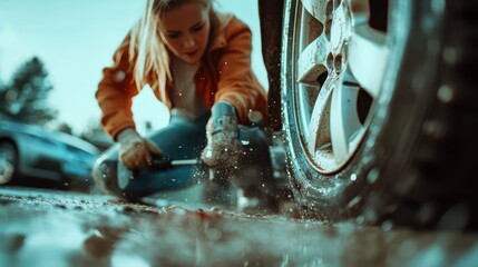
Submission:
[[[206,123],[209,115],[195,120],[179,116],[172,116],[169,125],[147,136],[156,144],[164,156],[177,159],[199,159],[206,146]],[[116,144],[105,151],[96,161],[94,179],[96,184],[108,192],[127,199],[166,191],[177,190],[197,184],[205,170],[201,166],[176,166],[162,170],[137,170],[131,172],[133,179],[126,187],[118,186],[119,145]]]

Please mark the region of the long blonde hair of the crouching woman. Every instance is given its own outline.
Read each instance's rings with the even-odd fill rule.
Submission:
[[[166,96],[166,80],[172,81],[173,77],[169,71],[168,50],[158,29],[159,18],[165,12],[193,1],[202,2],[209,9],[211,40],[217,27],[217,17],[212,7],[213,0],[147,0],[146,10],[139,24],[131,30],[128,51],[129,62],[135,66],[133,77],[138,90],[146,85],[148,75],[153,73],[156,81],[150,85],[152,88],[157,87],[160,96]]]

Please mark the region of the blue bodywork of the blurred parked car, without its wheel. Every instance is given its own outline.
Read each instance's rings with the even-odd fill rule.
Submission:
[[[0,141],[12,142],[18,150],[17,175],[70,182],[90,182],[91,167],[99,150],[91,144],[64,132],[14,121],[0,121]]]

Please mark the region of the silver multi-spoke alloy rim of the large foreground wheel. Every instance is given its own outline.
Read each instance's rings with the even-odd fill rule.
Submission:
[[[322,174],[347,166],[381,91],[390,49],[369,17],[368,0],[303,0],[295,9],[294,116],[308,160]]]

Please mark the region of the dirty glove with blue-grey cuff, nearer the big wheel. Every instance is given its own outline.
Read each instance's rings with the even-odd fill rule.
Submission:
[[[245,151],[237,132],[234,107],[225,101],[215,103],[206,126],[207,146],[201,156],[203,162],[221,170],[234,170],[240,166]]]

